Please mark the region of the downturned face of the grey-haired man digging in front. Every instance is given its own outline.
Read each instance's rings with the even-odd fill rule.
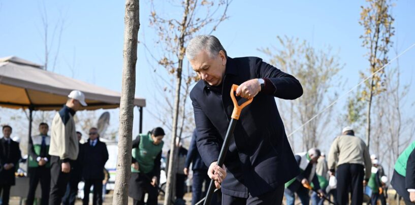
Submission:
[[[226,69],[226,56],[224,51],[211,58],[202,50],[194,59],[189,60],[191,67],[198,76],[211,86],[220,85]]]

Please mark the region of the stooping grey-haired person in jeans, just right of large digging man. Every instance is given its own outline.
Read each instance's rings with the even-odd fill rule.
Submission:
[[[311,183],[318,191],[319,195],[324,195],[315,173],[316,163],[318,158],[320,158],[320,155],[320,150],[316,148],[311,148],[307,152],[297,153],[295,155],[297,164],[301,169],[301,173],[297,177],[285,183],[284,195],[287,205],[294,205],[295,193],[297,193],[303,205],[309,204],[310,190],[306,187],[309,187]]]

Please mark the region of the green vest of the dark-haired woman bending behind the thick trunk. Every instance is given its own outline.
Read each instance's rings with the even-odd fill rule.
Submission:
[[[154,167],[154,160],[163,149],[164,142],[154,145],[153,140],[151,139],[151,134],[139,134],[140,144],[137,148],[133,149],[133,157],[137,160],[139,165],[139,170],[131,167],[131,172],[145,174],[151,172]]]

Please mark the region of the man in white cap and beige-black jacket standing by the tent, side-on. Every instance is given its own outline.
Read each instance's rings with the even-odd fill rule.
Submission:
[[[85,95],[73,90],[65,106],[52,120],[49,155],[51,181],[49,205],[58,205],[65,194],[71,172],[71,164],[78,157],[79,145],[75,130],[74,115],[85,103]]]

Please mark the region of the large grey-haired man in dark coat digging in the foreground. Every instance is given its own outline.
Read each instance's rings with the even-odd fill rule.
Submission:
[[[186,49],[202,79],[190,92],[198,150],[208,175],[221,187],[222,204],[281,204],[284,183],[299,174],[274,97],[296,99],[300,82],[258,57],[231,58],[214,36],[198,36]],[[238,120],[223,167],[216,165],[236,96],[253,101]],[[241,104],[244,99],[239,99]]]

